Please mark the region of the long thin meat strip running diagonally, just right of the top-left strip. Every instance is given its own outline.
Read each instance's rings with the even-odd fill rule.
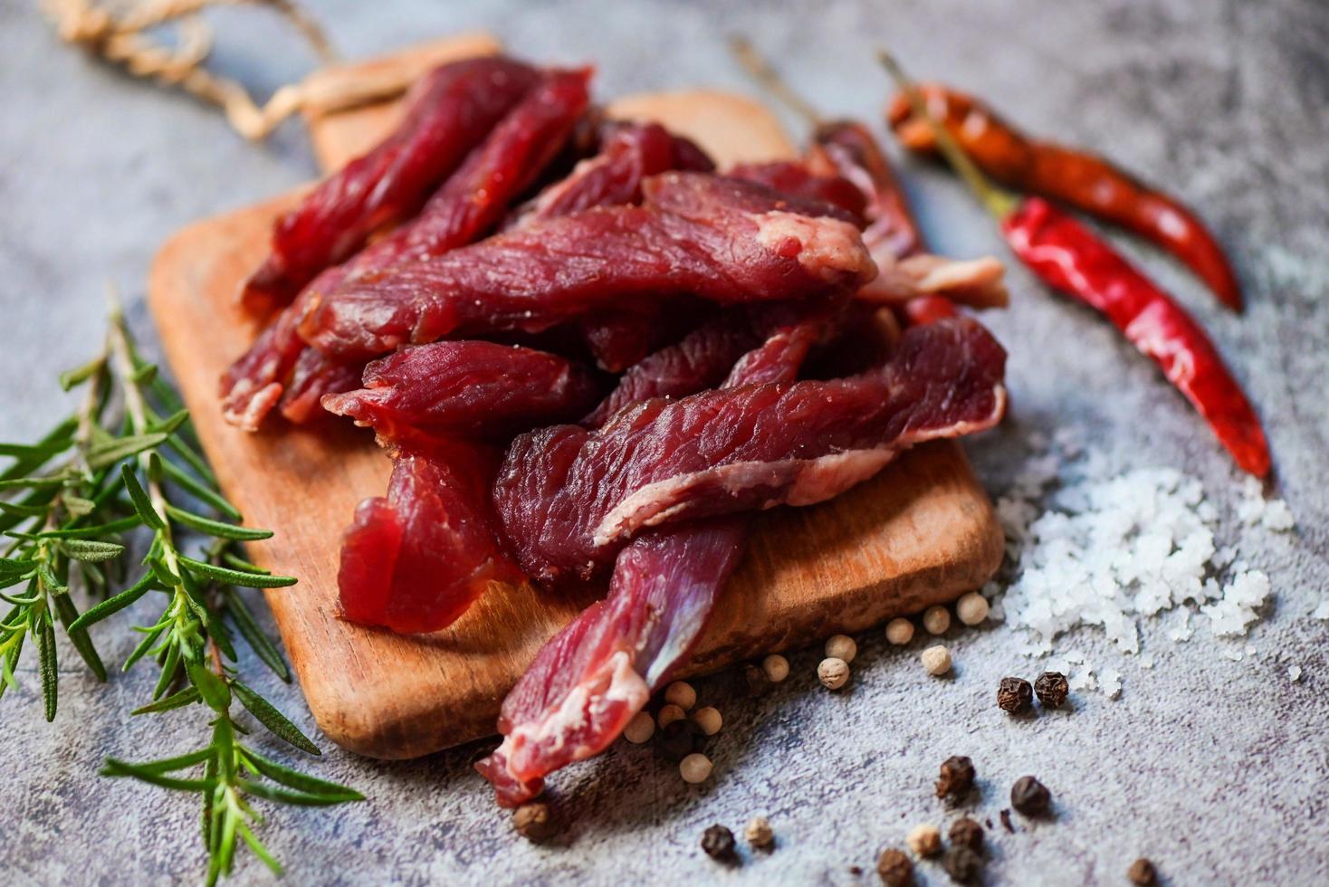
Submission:
[[[227,421],[256,430],[283,394],[282,413],[296,422],[318,414],[323,394],[355,388],[363,360],[308,351],[299,320],[320,293],[348,279],[409,259],[439,255],[492,228],[508,204],[566,142],[586,109],[589,72],[553,72],[498,122],[420,215],[350,262],[323,271],[283,311],[222,380]]]

